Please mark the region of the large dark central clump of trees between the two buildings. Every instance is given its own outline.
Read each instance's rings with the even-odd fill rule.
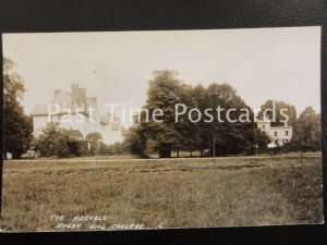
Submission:
[[[189,114],[185,113],[179,118],[179,122],[175,122],[177,103],[183,103],[186,108],[197,108],[202,114],[208,108],[215,112],[219,106],[223,109],[222,117],[226,117],[229,108],[234,108],[237,111],[232,114],[232,119],[239,119],[240,109],[246,108],[249,117],[253,119],[252,109],[228,84],[214,83],[208,87],[202,85],[192,87],[178,79],[174,71],[156,71],[153,75],[144,106],[149,112],[149,120],[144,120],[143,113],[141,121],[136,121],[125,133],[124,139],[141,156],[156,151],[160,157],[170,157],[171,150],[182,149],[192,152],[196,149],[211,150],[214,147],[217,156],[226,156],[252,154],[255,145],[266,147],[269,138],[257,130],[253,120],[231,123],[226,120],[220,122],[215,118],[211,123],[203,120],[191,122]],[[162,120],[161,122],[152,118],[156,109],[162,111],[161,117],[156,117],[156,120]]]

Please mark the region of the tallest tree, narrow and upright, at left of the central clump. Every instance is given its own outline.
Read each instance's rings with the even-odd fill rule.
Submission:
[[[141,121],[138,131],[143,132],[147,139],[155,142],[155,150],[160,157],[167,158],[170,157],[172,148],[181,143],[181,134],[174,125],[174,105],[182,101],[184,85],[175,78],[178,74],[174,71],[156,71],[153,75],[144,107],[148,110],[149,120]],[[162,111],[162,115],[154,119],[152,117],[154,110]],[[142,150],[145,148],[146,140]]]

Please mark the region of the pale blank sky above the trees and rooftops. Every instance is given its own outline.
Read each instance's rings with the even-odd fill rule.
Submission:
[[[268,99],[320,111],[320,27],[3,34],[31,113],[56,88],[86,87],[98,103],[141,108],[155,70],[204,86],[229,83],[258,109]]]

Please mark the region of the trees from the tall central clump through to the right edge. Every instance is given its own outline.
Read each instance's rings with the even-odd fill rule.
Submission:
[[[170,157],[172,150],[199,151],[201,155],[209,152],[210,156],[253,155],[267,152],[267,144],[271,139],[257,128],[254,121],[235,122],[214,120],[211,123],[190,122],[182,118],[174,121],[175,103],[186,105],[187,108],[197,108],[202,113],[218,106],[225,109],[238,109],[232,114],[237,120],[241,117],[241,109],[245,108],[253,118],[254,111],[237,94],[237,90],[228,84],[213,83],[207,87],[198,84],[191,86],[177,78],[174,71],[156,71],[149,81],[147,100],[143,109],[152,115],[157,108],[164,111],[162,122],[158,120],[144,120],[145,114],[135,117],[133,126],[125,132],[124,143],[131,146],[135,154],[146,157],[157,152],[159,157]],[[319,150],[320,149],[320,115],[308,107],[296,119],[295,107],[283,101],[267,100],[258,112],[257,118],[263,119],[264,111],[276,107],[276,120],[271,126],[282,125],[281,108],[287,109],[288,124],[294,128],[294,137],[284,146],[286,150]],[[272,112],[266,114],[272,118]],[[186,114],[184,117],[187,117]],[[156,118],[158,119],[158,117]]]

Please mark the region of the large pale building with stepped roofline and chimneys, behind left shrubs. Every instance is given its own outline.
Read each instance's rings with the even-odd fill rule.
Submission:
[[[111,118],[112,117],[112,118]],[[87,134],[100,133],[105,144],[122,140],[121,123],[114,114],[100,114],[97,98],[86,97],[86,88],[71,84],[71,91],[55,89],[53,98],[45,105],[36,105],[33,111],[34,135],[37,136],[49,122],[60,127],[78,130]]]

